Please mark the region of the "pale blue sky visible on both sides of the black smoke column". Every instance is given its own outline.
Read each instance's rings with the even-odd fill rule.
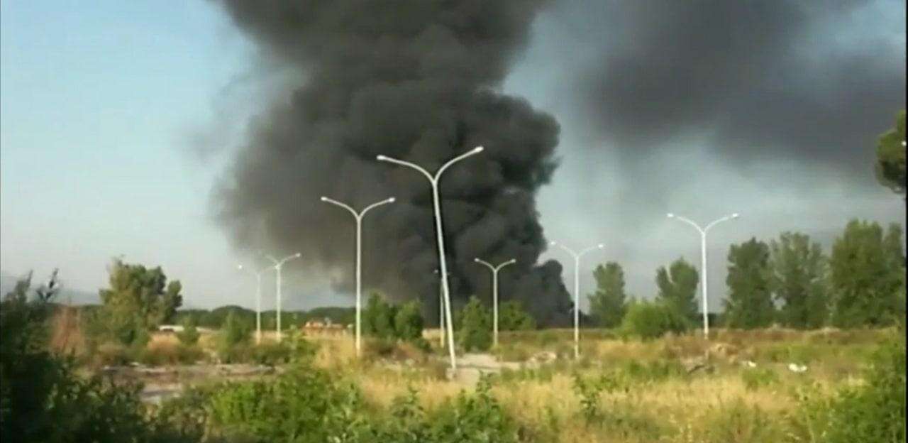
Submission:
[[[105,266],[123,255],[183,281],[189,306],[252,306],[252,279],[235,271],[250,258],[232,251],[209,208],[212,183],[263,102],[255,95],[269,94],[261,60],[216,5],[161,5],[0,2],[0,269],[41,276],[59,266],[68,286],[94,291],[106,281]],[[591,148],[601,142],[585,134],[582,115],[564,98],[566,75],[597,56],[580,41],[595,25],[565,26],[569,14],[562,13],[539,18],[505,90],[562,126],[561,166],[538,206],[550,240],[607,244],[602,257],[584,265],[586,288],[593,261],[622,261],[630,292],[642,296],[654,292],[656,266],[682,255],[696,261],[696,232],[666,222],[665,212],[701,222],[743,213],[734,228],[717,229],[710,246],[715,299],[724,290],[729,241],[800,230],[828,248],[850,218],[903,222],[903,204],[873,183],[869,165],[856,187],[838,172],[805,173],[784,159],[742,174],[707,162],[696,134],[666,142],[677,149],[654,159],[655,170],[684,178],[666,198],[671,207],[647,208],[646,215],[622,210],[647,202],[627,201],[634,183],[620,180],[608,146]],[[898,26],[903,54],[903,20]],[[572,49],[566,54],[565,47]],[[222,149],[198,152],[212,143]],[[540,260],[548,258],[567,262],[558,251]],[[293,307],[350,303],[324,276],[288,285]]]

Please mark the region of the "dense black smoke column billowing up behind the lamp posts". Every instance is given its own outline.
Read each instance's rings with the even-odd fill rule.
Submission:
[[[564,319],[560,265],[535,265],[545,248],[535,193],[556,166],[558,123],[497,91],[542,2],[221,3],[271,61],[305,78],[253,120],[216,192],[238,246],[301,251],[308,275],[329,272],[351,290],[353,220],[319,197],[362,208],[396,196],[364,221],[364,284],[437,311],[429,182],[375,157],[434,171],[483,145],[441,181],[455,303],[489,294],[474,257],[515,257],[501,274],[503,298],[524,300],[543,321]]]

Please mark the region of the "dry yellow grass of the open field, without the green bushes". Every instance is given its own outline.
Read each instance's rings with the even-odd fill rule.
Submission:
[[[571,330],[506,332],[489,354],[459,354],[462,369],[454,378],[446,375],[437,334],[425,332],[428,351],[366,340],[360,358],[350,336],[307,340],[318,345],[314,366],[357,386],[376,415],[410,390],[422,409],[439,409],[475,389],[485,373],[522,441],[726,443],[824,441],[812,435],[805,405],[861,386],[874,350],[897,332],[715,330],[709,340],[691,333],[643,341],[583,330],[580,359],[573,358]],[[215,367],[215,338],[202,334],[195,367]],[[268,332],[266,346],[273,340]],[[170,334],[155,334],[148,344],[161,354],[178,347]],[[211,385],[222,374],[212,370],[181,386]]]

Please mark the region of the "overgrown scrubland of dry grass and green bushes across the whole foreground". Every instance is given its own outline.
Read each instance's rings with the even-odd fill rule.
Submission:
[[[228,316],[216,332],[150,334],[137,355],[277,370],[212,372],[153,404],[140,401],[141,380],[85,375],[103,347],[52,351],[67,322],[42,293],[10,294],[0,310],[4,441],[904,441],[899,327],[719,329],[710,340],[584,330],[578,360],[570,330],[507,331],[490,352],[511,363],[477,381],[445,376],[437,340],[374,337],[357,359],[346,335],[291,330],[256,346]]]

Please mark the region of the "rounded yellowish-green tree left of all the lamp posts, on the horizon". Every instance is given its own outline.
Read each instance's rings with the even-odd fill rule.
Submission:
[[[101,290],[104,308],[97,320],[106,332],[126,345],[147,339],[148,330],[171,320],[183,304],[180,281],[167,281],[160,267],[114,260],[109,288]]]

